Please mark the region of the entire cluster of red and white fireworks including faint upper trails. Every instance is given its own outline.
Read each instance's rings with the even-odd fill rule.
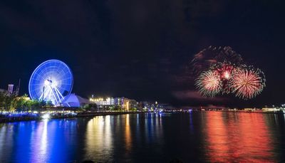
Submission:
[[[245,65],[242,57],[230,47],[210,46],[195,55],[192,65],[193,72],[198,74],[195,85],[205,97],[233,93],[248,100],[265,87],[264,73]]]

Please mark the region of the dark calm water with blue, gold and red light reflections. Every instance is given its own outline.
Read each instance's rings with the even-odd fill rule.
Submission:
[[[0,162],[285,162],[284,115],[192,112],[0,124]]]

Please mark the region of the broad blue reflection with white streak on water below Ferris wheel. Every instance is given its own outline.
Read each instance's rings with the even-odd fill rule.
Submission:
[[[70,162],[77,139],[75,125],[74,120],[2,124],[0,162]]]

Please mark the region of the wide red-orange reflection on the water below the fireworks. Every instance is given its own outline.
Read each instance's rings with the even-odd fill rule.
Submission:
[[[204,132],[209,162],[272,162],[274,154],[264,115],[207,112]]]

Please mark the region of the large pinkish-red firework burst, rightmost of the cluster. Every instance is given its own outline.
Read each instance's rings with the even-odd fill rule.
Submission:
[[[265,86],[264,73],[254,68],[238,68],[231,81],[232,92],[244,100],[254,98]]]

